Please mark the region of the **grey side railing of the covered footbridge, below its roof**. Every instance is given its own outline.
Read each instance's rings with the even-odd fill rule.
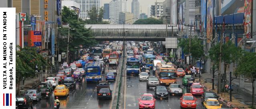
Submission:
[[[176,36],[178,31],[173,29],[173,33],[166,29],[91,29],[94,36],[123,36],[123,31],[125,31],[125,36],[134,37],[166,37],[166,36]]]

